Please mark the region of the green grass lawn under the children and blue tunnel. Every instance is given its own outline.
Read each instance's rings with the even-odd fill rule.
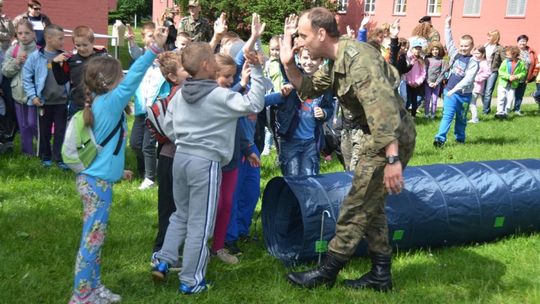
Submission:
[[[411,165],[476,160],[540,158],[540,113],[525,105],[524,117],[485,118],[467,128],[467,144],[449,140],[432,146],[438,120],[418,119],[418,144]],[[18,144],[16,146],[18,149]],[[264,158],[261,187],[279,174],[275,155]],[[134,168],[128,149],[127,167]],[[323,163],[323,172],[340,170]],[[110,225],[103,249],[102,280],[123,303],[540,303],[540,234],[515,235],[488,244],[398,252],[395,291],[379,294],[333,289],[303,290],[284,279],[288,269],[264,248],[256,213],[258,241],[242,244],[238,265],[209,264],[209,292],[181,296],[178,278],[150,279],[149,258],[157,231],[157,191],[137,190],[141,180],[114,187]],[[37,159],[0,156],[0,302],[66,303],[70,297],[81,231],[81,202],[74,175],[44,169]],[[258,210],[260,206],[258,207]],[[369,268],[355,258],[339,276],[357,277]]]

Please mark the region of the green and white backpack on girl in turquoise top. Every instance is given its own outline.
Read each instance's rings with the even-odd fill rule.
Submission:
[[[114,127],[107,138],[105,138],[103,142],[97,144],[92,128],[84,125],[83,111],[75,113],[69,121],[64,137],[64,143],[62,144],[62,159],[64,163],[71,170],[75,171],[75,173],[79,173],[88,168],[101,149],[103,149],[113,136],[118,133],[118,130],[120,130],[120,134],[124,133],[123,122],[124,114],[122,114],[118,124],[116,124],[116,127]],[[119,136],[114,155],[118,155],[120,152],[122,140],[122,136]]]

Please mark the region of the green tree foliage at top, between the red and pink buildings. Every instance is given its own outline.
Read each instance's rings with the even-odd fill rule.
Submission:
[[[181,7],[187,12],[187,0],[179,1]],[[184,4],[185,3],[185,4]],[[309,0],[201,0],[201,13],[213,22],[221,12],[227,13],[229,30],[238,33],[247,39],[250,35],[251,14],[261,15],[261,21],[266,23],[263,41],[268,41],[272,35],[283,32],[283,22],[292,13],[300,13],[314,6],[324,6],[335,10],[333,1],[309,1]]]

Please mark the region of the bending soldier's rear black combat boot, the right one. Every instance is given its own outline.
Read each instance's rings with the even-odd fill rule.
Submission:
[[[371,270],[357,280],[345,280],[343,284],[350,288],[370,288],[377,291],[392,289],[392,255],[370,253]]]

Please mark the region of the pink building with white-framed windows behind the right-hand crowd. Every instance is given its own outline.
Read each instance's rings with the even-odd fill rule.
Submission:
[[[358,28],[364,12],[371,13],[375,25],[401,19],[400,36],[410,36],[422,16],[431,16],[433,26],[444,34],[444,20],[452,10],[454,38],[470,34],[476,44],[486,42],[489,30],[501,32],[503,45],[516,45],[521,34],[529,36],[529,45],[540,49],[539,0],[337,0],[337,20],[344,33],[347,25]],[[453,4],[453,5],[452,5]],[[452,7],[452,9],[451,9]]]

